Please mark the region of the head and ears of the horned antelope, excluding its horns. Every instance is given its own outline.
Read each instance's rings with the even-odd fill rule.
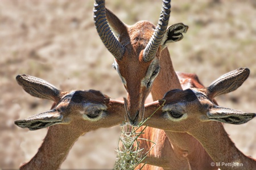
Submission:
[[[143,52],[155,32],[155,25],[148,21],[126,25],[107,8],[106,18],[119,44],[125,48],[122,57],[115,58],[114,66],[127,90],[127,117],[130,124],[138,125],[143,118],[144,101],[154,86],[154,79],[157,78],[161,70],[160,58],[161,56],[170,58],[166,48],[167,43],[181,40],[182,33],[185,33],[188,27],[182,23],[177,24],[179,26],[169,27],[167,32],[172,33],[166,34],[164,41],[156,50],[154,58],[145,61]],[[100,34],[102,35],[102,33]],[[168,41],[168,39],[174,40]],[[156,70],[158,73],[153,75]]]

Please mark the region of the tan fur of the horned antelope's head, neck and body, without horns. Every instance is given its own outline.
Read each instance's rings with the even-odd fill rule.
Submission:
[[[148,62],[144,62],[142,59],[143,50],[154,33],[155,26],[153,24],[142,21],[127,26],[107,9],[106,18],[118,37],[118,41],[125,47],[125,54],[121,59],[115,58],[115,62],[119,67],[119,74],[126,80],[126,84],[124,84],[128,92],[128,112],[126,115],[131,124],[137,125],[143,118],[144,101],[150,92],[153,100],[159,100],[167,91],[175,88],[181,89],[181,85],[172,66],[167,48],[162,48],[160,45],[154,59]],[[159,74],[151,87],[141,87],[141,81],[154,60],[159,61]],[[137,111],[139,111],[138,117]],[[156,135],[153,135],[154,133]],[[158,136],[159,133],[163,135]],[[210,166],[212,159],[200,143],[187,133],[164,132],[163,130],[147,128],[142,137],[152,139],[157,143],[145,160],[148,164],[170,169],[217,169],[217,167]],[[150,148],[146,144],[143,147]],[[197,157],[201,158],[200,163],[193,160]]]

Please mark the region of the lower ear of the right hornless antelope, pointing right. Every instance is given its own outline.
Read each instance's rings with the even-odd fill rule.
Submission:
[[[214,106],[207,112],[209,120],[224,122],[227,124],[245,124],[247,121],[253,119],[255,113],[244,113],[234,109],[222,108]]]

